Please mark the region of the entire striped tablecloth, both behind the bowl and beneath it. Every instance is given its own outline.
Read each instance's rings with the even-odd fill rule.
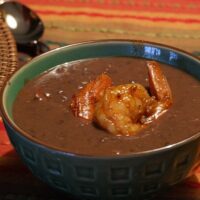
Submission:
[[[52,49],[88,40],[139,39],[200,56],[199,0],[21,0],[45,25]],[[20,56],[20,59],[23,57]],[[0,199],[71,199],[35,178],[10,144],[0,120]],[[161,194],[163,200],[200,200],[200,168]]]

